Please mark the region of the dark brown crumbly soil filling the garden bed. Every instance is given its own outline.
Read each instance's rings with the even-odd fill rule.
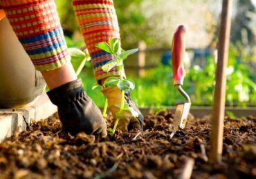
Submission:
[[[209,117],[190,116],[174,134],[173,114],[150,114],[143,134],[100,141],[65,134],[52,116],[0,144],[0,178],[177,178],[188,158],[195,161],[192,178],[256,178],[255,121],[227,117],[223,163],[210,165]]]

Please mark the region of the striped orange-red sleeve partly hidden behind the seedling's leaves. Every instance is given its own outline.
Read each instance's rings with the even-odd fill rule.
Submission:
[[[119,76],[113,67],[109,72],[102,70],[102,65],[114,57],[95,47],[96,43],[120,38],[118,19],[112,0],[73,0],[75,16],[80,25],[86,48],[91,54],[95,78],[99,81],[109,76]]]

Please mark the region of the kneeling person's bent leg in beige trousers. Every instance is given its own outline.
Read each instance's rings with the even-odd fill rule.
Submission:
[[[31,105],[44,88],[42,75],[35,70],[8,20],[3,18],[0,21],[0,106]]]

